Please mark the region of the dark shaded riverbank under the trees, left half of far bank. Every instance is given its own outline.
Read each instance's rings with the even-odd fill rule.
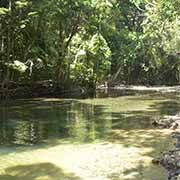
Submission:
[[[14,83],[11,82],[7,87],[2,88],[0,84],[0,100],[22,99],[22,98],[64,98],[64,97],[83,97],[89,90],[78,85],[71,85],[69,88],[58,87],[51,80],[36,81],[33,83]]]

